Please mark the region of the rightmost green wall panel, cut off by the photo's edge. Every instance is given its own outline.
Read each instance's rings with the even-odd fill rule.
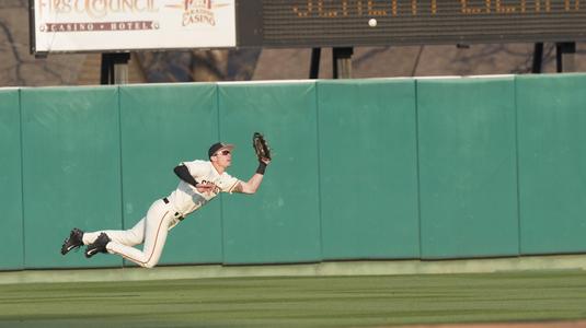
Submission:
[[[520,250],[586,251],[586,75],[516,82]]]

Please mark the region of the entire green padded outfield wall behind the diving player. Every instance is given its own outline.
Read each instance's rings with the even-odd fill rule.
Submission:
[[[59,249],[129,229],[173,167],[237,145],[254,196],[170,232],[160,265],[586,253],[586,74],[0,90],[0,270],[133,266]]]

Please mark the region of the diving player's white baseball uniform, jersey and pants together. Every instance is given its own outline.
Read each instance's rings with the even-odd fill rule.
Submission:
[[[199,183],[210,183],[215,187],[208,192],[197,189],[181,180],[177,188],[163,199],[156,200],[147,216],[135,226],[126,231],[100,231],[83,234],[83,244],[93,243],[97,236],[105,232],[112,239],[106,245],[110,254],[117,254],[141,267],[154,267],[161,257],[168,232],[186,215],[196,211],[219,192],[232,192],[240,181],[228,173],[219,174],[209,161],[193,161],[181,163],[189,174]],[[143,244],[142,250],[133,246]]]

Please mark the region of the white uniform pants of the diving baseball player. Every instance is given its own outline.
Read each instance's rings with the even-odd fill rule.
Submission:
[[[101,233],[112,239],[106,245],[110,254],[117,254],[141,267],[152,268],[161,258],[169,231],[179,223],[175,210],[162,200],[154,201],[147,216],[129,230],[100,231],[83,234],[83,244],[93,243]],[[133,246],[143,244],[142,250]]]

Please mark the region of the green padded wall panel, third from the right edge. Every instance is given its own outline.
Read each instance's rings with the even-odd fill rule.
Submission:
[[[322,257],[420,257],[414,80],[318,83]]]

